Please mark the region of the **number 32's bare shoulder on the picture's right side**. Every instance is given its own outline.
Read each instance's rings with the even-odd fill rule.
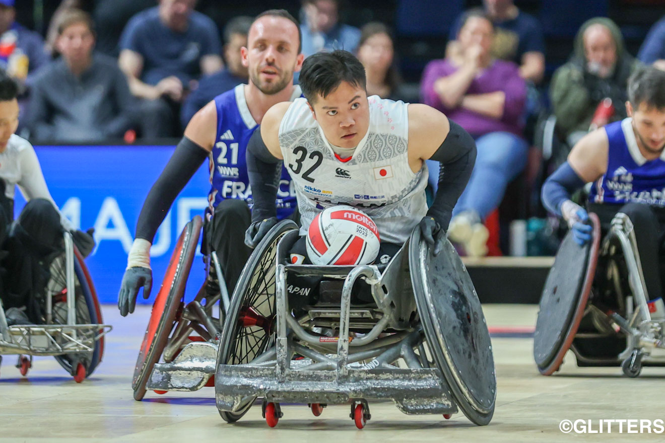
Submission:
[[[448,136],[448,117],[432,106],[419,103],[409,104],[408,113],[409,156],[428,159]]]

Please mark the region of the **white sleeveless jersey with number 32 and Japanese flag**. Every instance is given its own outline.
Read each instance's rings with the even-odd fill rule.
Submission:
[[[427,166],[408,161],[408,104],[369,99],[370,125],[348,161],[335,157],[307,100],[297,98],[279,126],[284,165],[295,184],[301,235],[327,207],[350,205],[372,217],[382,242],[406,242],[427,213]]]

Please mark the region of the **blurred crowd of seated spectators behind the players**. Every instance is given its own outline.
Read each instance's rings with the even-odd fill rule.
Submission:
[[[631,72],[665,70],[665,5],[652,0],[258,3],[0,0],[0,64],[22,90],[19,133],[34,143],[178,137],[217,94],[247,82],[252,17],[283,7],[301,21],[305,56],[354,52],[368,95],[428,104],[474,137],[475,169],[449,236],[484,255],[497,207],[542,214],[537,181],[589,130],[626,117]],[[41,27],[17,11],[39,15]],[[648,18],[608,18],[626,11]]]

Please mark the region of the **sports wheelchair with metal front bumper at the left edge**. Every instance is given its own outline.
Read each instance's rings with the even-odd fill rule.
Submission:
[[[35,355],[52,355],[81,383],[104,355],[104,325],[97,295],[83,257],[65,232],[64,251],[53,254],[39,324],[8,325],[0,300],[0,361],[18,354],[16,367],[27,375]]]

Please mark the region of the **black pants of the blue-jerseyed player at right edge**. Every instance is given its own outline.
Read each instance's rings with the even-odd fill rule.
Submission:
[[[612,219],[616,213],[624,213],[628,216],[635,232],[648,298],[654,300],[662,297],[662,288],[665,286],[665,282],[660,268],[661,264],[665,263],[665,248],[663,247],[665,240],[665,209],[642,203],[628,203],[622,206],[593,203],[589,205],[589,211],[598,215],[603,236],[610,229]]]

